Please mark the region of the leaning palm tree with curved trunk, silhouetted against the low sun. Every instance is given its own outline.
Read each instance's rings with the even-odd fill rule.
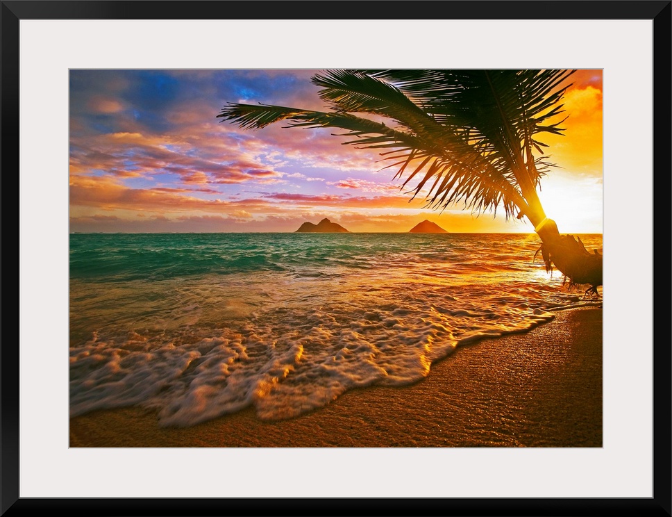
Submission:
[[[539,252],[570,286],[602,285],[602,255],[580,238],[561,236],[546,217],[537,188],[550,167],[544,134],[561,135],[561,104],[573,70],[328,70],[312,77],[330,106],[321,112],[228,103],[217,117],[258,129],[280,120],[291,127],[344,129],[358,148],[383,149],[413,197],[446,208],[463,202],[481,213],[503,208],[507,220],[528,218]],[[356,115],[355,115],[356,114]],[[380,122],[380,120],[385,122]],[[539,253],[537,252],[537,253]],[[536,255],[535,255],[536,256]]]

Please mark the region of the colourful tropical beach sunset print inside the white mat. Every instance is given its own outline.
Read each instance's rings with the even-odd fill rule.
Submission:
[[[69,70],[70,447],[600,448],[602,94]]]

